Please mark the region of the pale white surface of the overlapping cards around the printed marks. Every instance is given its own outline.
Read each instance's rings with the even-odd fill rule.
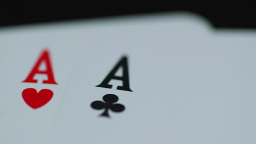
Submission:
[[[202,17],[173,13],[18,28],[0,38],[0,143],[256,142],[256,32],[216,31]],[[59,85],[42,84],[44,76],[22,83],[44,46]],[[117,89],[120,80],[96,87],[124,57],[132,92]],[[21,97],[28,87],[54,97],[33,110]],[[101,116],[106,105],[91,104],[106,103],[106,94],[124,111],[108,105]]]

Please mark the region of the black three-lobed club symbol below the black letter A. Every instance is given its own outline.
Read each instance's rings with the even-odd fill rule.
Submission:
[[[108,110],[112,110],[113,112],[122,112],[125,110],[125,106],[122,104],[114,104],[118,101],[118,96],[114,94],[106,94],[102,98],[105,102],[96,100],[91,103],[92,109],[101,110],[105,109],[100,116],[109,117]]]

